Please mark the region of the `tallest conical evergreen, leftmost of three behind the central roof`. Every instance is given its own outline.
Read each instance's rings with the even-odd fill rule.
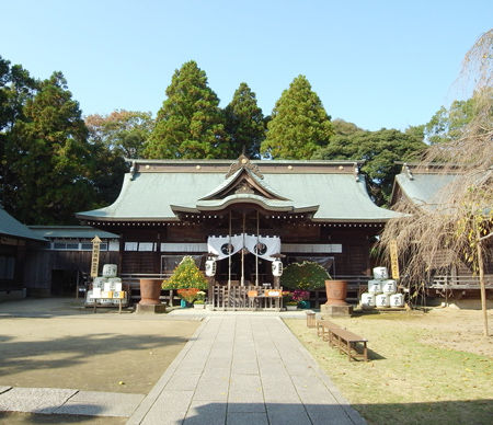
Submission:
[[[147,158],[231,156],[219,99],[195,61],[185,62],[174,72],[167,96],[145,150]]]

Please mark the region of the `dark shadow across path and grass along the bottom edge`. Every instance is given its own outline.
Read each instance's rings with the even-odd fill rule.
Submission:
[[[447,401],[429,403],[389,403],[352,405],[369,424],[488,425],[493,417],[493,400]],[[163,407],[165,410],[165,407]],[[163,412],[161,411],[161,414]],[[195,402],[185,414],[171,412],[162,416],[167,424],[283,424],[344,425],[363,424],[351,407],[340,404],[221,403]],[[146,417],[142,424],[154,422]]]

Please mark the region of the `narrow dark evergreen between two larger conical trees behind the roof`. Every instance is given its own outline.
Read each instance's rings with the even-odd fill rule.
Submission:
[[[248,157],[260,158],[260,147],[265,139],[264,114],[256,104],[255,93],[245,82],[234,92],[225,114],[234,156],[240,156],[244,149]]]

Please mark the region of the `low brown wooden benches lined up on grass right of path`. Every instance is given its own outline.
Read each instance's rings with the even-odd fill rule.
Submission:
[[[367,338],[356,335],[329,320],[317,321],[317,334],[322,336],[323,341],[329,341],[331,346],[337,347],[340,353],[346,353],[349,361],[353,358],[368,361]]]

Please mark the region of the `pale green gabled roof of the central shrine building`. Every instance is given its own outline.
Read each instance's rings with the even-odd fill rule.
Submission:
[[[241,158],[240,158],[241,159]],[[220,210],[252,203],[277,211],[310,210],[316,221],[382,222],[354,161],[136,160],[113,205],[83,211],[88,221],[171,221],[173,211]],[[248,181],[248,182],[246,182]],[[246,191],[240,184],[249,183]]]

